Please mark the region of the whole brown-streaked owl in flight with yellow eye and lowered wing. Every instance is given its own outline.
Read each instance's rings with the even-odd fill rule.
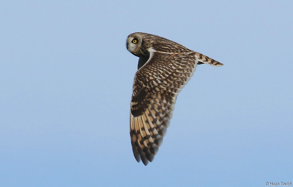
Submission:
[[[176,97],[197,64],[224,64],[176,42],[148,33],[127,37],[127,50],[139,57],[130,104],[130,137],[134,157],[153,161],[172,118]]]

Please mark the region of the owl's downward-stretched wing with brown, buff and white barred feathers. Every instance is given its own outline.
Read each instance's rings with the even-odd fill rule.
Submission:
[[[169,121],[176,97],[195,71],[199,56],[188,53],[151,52],[135,74],[130,109],[130,137],[137,162],[154,159]]]

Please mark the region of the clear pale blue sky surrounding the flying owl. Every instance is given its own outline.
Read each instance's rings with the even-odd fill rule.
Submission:
[[[0,186],[293,182],[292,1],[1,1]],[[198,65],[152,163],[129,136],[133,32]]]

